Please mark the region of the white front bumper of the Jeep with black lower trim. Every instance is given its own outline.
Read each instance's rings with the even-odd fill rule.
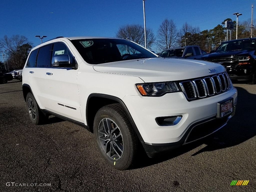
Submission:
[[[222,94],[190,102],[182,92],[168,93],[162,97],[127,95],[123,101],[143,138],[145,151],[153,157],[156,153],[205,137],[224,126],[234,112],[225,119],[217,120],[217,103],[230,97],[236,106],[237,90],[233,86]],[[156,117],[177,115],[182,119],[174,126],[159,126],[155,121]],[[191,130],[204,133],[197,134]]]

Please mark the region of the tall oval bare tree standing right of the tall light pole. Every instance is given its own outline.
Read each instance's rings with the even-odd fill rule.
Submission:
[[[172,19],[165,19],[157,31],[157,46],[159,49],[168,49],[176,46],[178,31]]]

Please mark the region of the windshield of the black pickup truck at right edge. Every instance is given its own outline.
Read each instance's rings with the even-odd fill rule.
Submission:
[[[224,42],[215,52],[227,52],[238,50],[255,50],[255,40],[237,40],[232,42]]]

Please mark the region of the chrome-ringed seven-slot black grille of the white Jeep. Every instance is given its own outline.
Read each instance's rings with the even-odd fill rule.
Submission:
[[[179,85],[188,101],[211,97],[230,88],[229,77],[226,72],[182,81]]]

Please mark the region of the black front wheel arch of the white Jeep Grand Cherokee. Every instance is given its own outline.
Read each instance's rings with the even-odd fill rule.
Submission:
[[[144,144],[144,140],[143,140],[140,132],[138,131],[138,128],[137,128],[136,124],[134,123],[133,118],[132,118],[129,110],[127,109],[126,105],[120,98],[115,97],[113,95],[107,95],[107,94],[102,94],[102,93],[91,93],[89,95],[89,97],[87,99],[87,103],[86,103],[87,126],[89,126],[91,130],[93,130],[93,121],[94,121],[95,115],[98,112],[98,110],[100,108],[102,108],[103,106],[106,106],[109,104],[114,104],[114,103],[120,103],[122,105],[123,109],[126,112],[128,119],[130,120],[130,122],[133,126],[133,129],[134,129],[136,135],[138,136],[139,140]]]

